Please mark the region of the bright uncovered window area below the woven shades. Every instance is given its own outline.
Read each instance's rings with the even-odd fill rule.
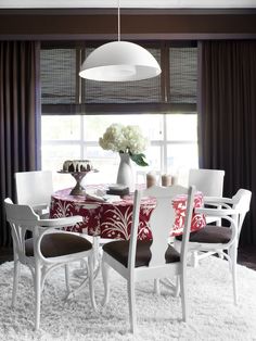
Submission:
[[[42,116],[42,168],[54,173],[65,160],[89,159],[99,174],[88,174],[87,184],[115,184],[119,156],[99,147],[99,137],[112,123],[137,124],[151,143],[145,151],[148,167],[185,177],[190,167],[197,167],[196,114],[151,115],[76,115]],[[142,168],[133,164],[135,172]],[[72,186],[69,175],[55,174],[60,187]]]

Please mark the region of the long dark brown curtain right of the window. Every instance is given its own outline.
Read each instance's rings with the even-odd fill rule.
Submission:
[[[253,192],[240,244],[256,244],[256,41],[200,45],[200,165],[226,171],[223,194]]]

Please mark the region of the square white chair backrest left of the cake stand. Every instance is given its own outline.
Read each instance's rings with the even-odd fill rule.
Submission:
[[[15,173],[16,199],[20,204],[50,204],[53,193],[51,171]]]

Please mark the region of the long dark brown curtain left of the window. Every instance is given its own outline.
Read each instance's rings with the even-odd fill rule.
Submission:
[[[15,200],[14,173],[39,167],[39,43],[0,41],[0,245],[11,245],[3,200]]]

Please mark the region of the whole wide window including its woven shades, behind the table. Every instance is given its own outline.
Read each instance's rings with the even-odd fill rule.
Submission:
[[[65,160],[90,159],[100,173],[88,174],[86,182],[115,182],[119,156],[102,150],[98,140],[112,123],[123,123],[139,125],[151,141],[145,152],[150,166],[144,171],[184,179],[188,168],[197,167],[199,159],[196,45],[145,43],[163,73],[131,83],[81,79],[79,65],[95,47],[51,42],[41,49],[42,168],[57,171]],[[74,184],[71,176],[61,174],[55,181],[61,187]]]

